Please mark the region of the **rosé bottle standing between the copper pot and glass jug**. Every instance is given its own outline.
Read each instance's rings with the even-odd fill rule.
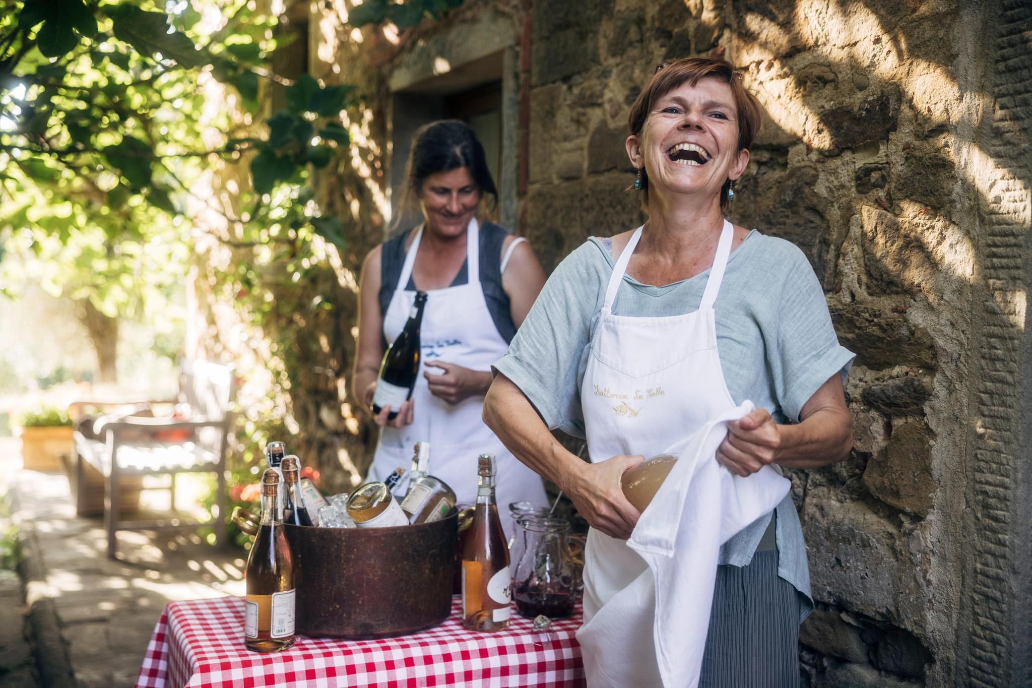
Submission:
[[[494,502],[494,455],[477,458],[477,505],[462,546],[462,625],[470,630],[509,626],[512,574],[509,548]]]

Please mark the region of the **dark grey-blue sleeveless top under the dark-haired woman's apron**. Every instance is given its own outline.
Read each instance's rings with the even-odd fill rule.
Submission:
[[[401,276],[401,268],[405,265],[405,242],[411,232],[409,229],[384,241],[380,258],[381,316],[387,314],[387,306],[390,305],[397,281]],[[516,336],[516,324],[513,323],[509,310],[509,295],[502,287],[502,244],[507,236],[509,231],[492,222],[480,225],[480,289],[484,292],[484,300],[487,301],[487,310],[491,314],[494,327],[502,338],[509,343]],[[469,268],[463,262],[451,286],[457,287],[469,282]],[[405,290],[416,291],[416,284],[412,277],[409,277]]]

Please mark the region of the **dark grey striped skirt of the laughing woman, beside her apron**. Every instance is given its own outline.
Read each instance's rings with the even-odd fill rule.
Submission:
[[[700,688],[798,688],[799,602],[777,550],[717,566]]]

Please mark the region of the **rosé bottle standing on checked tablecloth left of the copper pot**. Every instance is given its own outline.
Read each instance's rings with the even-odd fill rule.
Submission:
[[[279,652],[294,644],[294,559],[283,531],[280,473],[262,476],[261,523],[248,555],[244,642],[248,650]]]

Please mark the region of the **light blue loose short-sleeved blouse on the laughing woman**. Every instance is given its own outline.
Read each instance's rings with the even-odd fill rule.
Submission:
[[[526,395],[550,429],[583,437],[580,389],[614,259],[609,239],[589,238],[549,277],[494,366]],[[623,276],[617,316],[679,316],[698,309],[709,270],[664,287]],[[803,252],[752,230],[732,252],[714,303],[717,352],[736,403],[750,399],[778,423],[798,422],[803,405],[853,354],[839,346],[820,283]],[[777,506],[778,575],[799,590],[800,621],[812,610],[806,544],[792,497]],[[729,540],[719,563],[752,560],[768,515]]]

